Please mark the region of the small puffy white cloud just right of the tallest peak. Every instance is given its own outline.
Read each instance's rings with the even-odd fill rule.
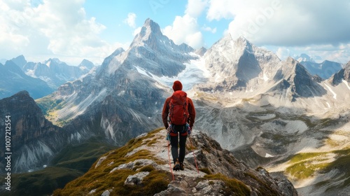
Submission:
[[[192,48],[200,48],[204,38],[199,29],[197,19],[185,14],[183,17],[176,16],[172,26],[165,27],[163,33],[176,44],[187,43]]]

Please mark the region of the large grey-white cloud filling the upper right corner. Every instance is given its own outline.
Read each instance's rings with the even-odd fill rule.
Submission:
[[[228,30],[233,37],[244,36],[260,45],[350,41],[350,2],[347,0],[212,0],[207,18],[232,19]]]

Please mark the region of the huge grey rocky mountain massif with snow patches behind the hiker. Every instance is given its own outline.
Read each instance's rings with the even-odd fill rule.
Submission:
[[[349,69],[350,62],[320,78],[291,57],[282,61],[230,34],[208,50],[194,50],[174,44],[148,19],[130,48],[118,48],[99,69],[36,104],[55,129],[64,130],[52,133],[67,144],[93,137],[123,146],[162,126],[165,98],[174,80],[181,80],[196,106],[194,132],[208,134],[250,167],[287,177],[302,195],[334,195],[349,190]],[[9,112],[8,99],[1,101]],[[22,121],[37,122],[28,116]],[[46,146],[50,142],[41,139]],[[46,149],[35,145],[38,155],[18,148],[27,162],[15,165],[18,171],[49,164],[40,159]],[[64,145],[49,146],[52,157]]]

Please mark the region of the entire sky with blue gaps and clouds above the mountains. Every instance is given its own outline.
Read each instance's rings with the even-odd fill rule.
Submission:
[[[193,48],[230,33],[281,59],[304,52],[350,61],[349,0],[0,0],[0,59],[101,64],[116,48],[127,50],[147,18]]]

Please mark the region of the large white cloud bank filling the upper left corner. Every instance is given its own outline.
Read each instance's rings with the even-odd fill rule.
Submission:
[[[102,62],[120,43],[99,38],[106,29],[87,18],[83,0],[0,1],[0,50],[10,59],[18,55],[48,57],[79,64],[83,58]]]

